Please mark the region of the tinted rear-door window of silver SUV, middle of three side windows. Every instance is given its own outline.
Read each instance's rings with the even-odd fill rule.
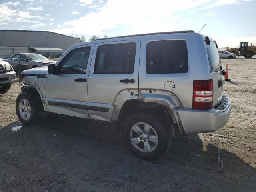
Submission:
[[[132,74],[136,43],[102,45],[98,47],[95,74]]]

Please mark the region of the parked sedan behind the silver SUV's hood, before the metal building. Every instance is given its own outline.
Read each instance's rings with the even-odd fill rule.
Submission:
[[[14,68],[14,70],[17,70],[17,65],[19,64],[28,64],[28,69],[31,69],[56,63],[56,61],[49,60],[41,54],[35,53],[14,54],[5,61],[8,62],[12,66],[12,68]]]

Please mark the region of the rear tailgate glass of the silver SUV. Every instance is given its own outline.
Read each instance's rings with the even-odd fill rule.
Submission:
[[[210,45],[206,45],[208,60],[210,64],[210,71],[217,72],[221,70],[220,56],[216,48],[216,44],[211,42]]]

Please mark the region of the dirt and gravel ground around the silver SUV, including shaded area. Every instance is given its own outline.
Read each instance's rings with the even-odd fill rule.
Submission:
[[[48,114],[37,126],[11,131],[21,125],[16,80],[0,94],[0,191],[256,192],[256,56],[222,59],[226,64],[228,124],[208,134],[175,137],[154,162],[134,157],[109,124]]]

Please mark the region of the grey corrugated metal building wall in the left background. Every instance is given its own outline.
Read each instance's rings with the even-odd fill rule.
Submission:
[[[77,43],[80,43],[77,38],[47,31],[0,30],[0,46],[55,47],[66,50]]]

